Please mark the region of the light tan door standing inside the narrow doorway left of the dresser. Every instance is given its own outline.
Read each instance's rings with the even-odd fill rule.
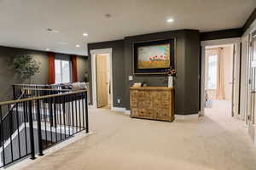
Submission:
[[[96,94],[97,107],[108,105],[108,55],[96,54]]]

